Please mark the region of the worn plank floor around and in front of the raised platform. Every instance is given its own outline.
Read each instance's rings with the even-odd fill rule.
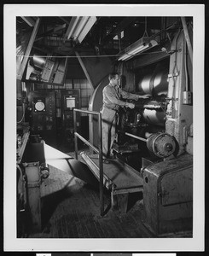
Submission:
[[[42,225],[30,238],[141,238],[153,237],[142,224],[142,194],[129,198],[128,212],[108,209],[110,194],[105,191],[107,214],[100,214],[99,183],[88,184],[50,166],[50,175],[41,185]]]

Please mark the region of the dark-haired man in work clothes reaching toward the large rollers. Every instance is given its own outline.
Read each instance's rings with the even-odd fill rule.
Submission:
[[[116,113],[119,107],[135,108],[133,103],[120,99],[137,101],[141,97],[144,96],[131,94],[119,88],[119,73],[109,74],[109,84],[103,89],[102,106],[102,153],[107,159],[114,159],[111,150],[115,138]]]

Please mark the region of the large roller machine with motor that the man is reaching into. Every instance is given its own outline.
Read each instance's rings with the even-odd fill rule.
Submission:
[[[124,90],[149,96],[134,102],[134,109],[120,108],[113,150],[119,160],[141,175],[144,222],[157,236],[192,230],[190,38],[191,26],[180,27],[172,31],[169,42],[154,44],[143,55],[131,55],[131,51],[136,53],[137,46],[130,46],[115,64]],[[141,41],[139,44],[144,47],[146,44]],[[108,83],[107,78],[105,81],[91,97],[92,111],[99,111],[102,107],[102,90]],[[96,122],[96,119],[90,119],[90,139],[94,145],[97,142]]]

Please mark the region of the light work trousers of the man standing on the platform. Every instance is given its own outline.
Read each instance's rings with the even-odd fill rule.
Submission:
[[[102,108],[102,153],[104,156],[112,154],[111,148],[115,138],[116,111]]]

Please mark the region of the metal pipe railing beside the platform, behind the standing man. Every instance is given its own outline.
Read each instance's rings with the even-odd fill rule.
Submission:
[[[76,113],[88,113],[98,116],[98,148],[92,145],[84,137],[77,132],[77,119]],[[74,143],[75,143],[75,158],[78,160],[78,138],[86,145],[92,148],[97,154],[99,154],[99,172],[100,172],[100,210],[101,215],[104,215],[104,191],[103,191],[103,163],[102,163],[102,113],[88,110],[81,110],[78,108],[73,109],[73,122],[74,122]]]

